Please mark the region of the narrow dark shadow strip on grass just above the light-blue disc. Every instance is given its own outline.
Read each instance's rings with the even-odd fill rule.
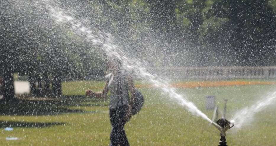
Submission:
[[[22,128],[46,128],[56,125],[66,125],[66,123],[58,122],[17,122],[17,121],[0,121],[0,128],[6,127],[22,127]]]

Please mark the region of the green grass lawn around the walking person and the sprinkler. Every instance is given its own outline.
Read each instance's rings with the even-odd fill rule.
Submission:
[[[84,95],[86,89],[100,91],[103,86],[104,83],[100,81],[72,81],[63,83],[62,89],[64,95]],[[275,91],[275,87],[247,85],[177,90],[178,93],[185,94],[209,118],[212,118],[213,111],[205,110],[205,96],[215,95],[220,111],[223,111],[224,98],[227,98],[226,116],[231,119],[235,111],[254,104],[268,92]],[[162,95],[159,89],[145,87],[140,90],[145,97],[144,106],[125,125],[130,145],[219,144],[219,131],[209,126],[208,121],[192,115],[174,100]],[[40,105],[44,104],[44,107],[40,107],[44,111],[41,113],[5,115],[1,112],[0,145],[109,145],[109,100],[79,96],[68,96],[59,100],[62,101],[58,101],[61,102],[58,104],[39,102]],[[32,103],[37,107],[35,102]],[[56,112],[49,112],[51,109]],[[240,130],[234,126],[227,131],[227,145],[275,145],[275,111],[274,103],[257,113],[253,124]],[[13,131],[4,130],[9,125],[14,127]],[[6,137],[18,137],[19,140],[8,141]]]

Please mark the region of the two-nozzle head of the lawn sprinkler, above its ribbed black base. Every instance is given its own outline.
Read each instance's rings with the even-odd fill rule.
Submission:
[[[233,122],[230,122],[228,121],[227,119],[225,118],[221,118],[219,120],[217,120],[217,122],[213,122],[212,125],[214,125],[217,129],[219,129],[220,131],[220,135],[221,136],[226,136],[225,132],[232,128],[234,126],[234,123]]]

